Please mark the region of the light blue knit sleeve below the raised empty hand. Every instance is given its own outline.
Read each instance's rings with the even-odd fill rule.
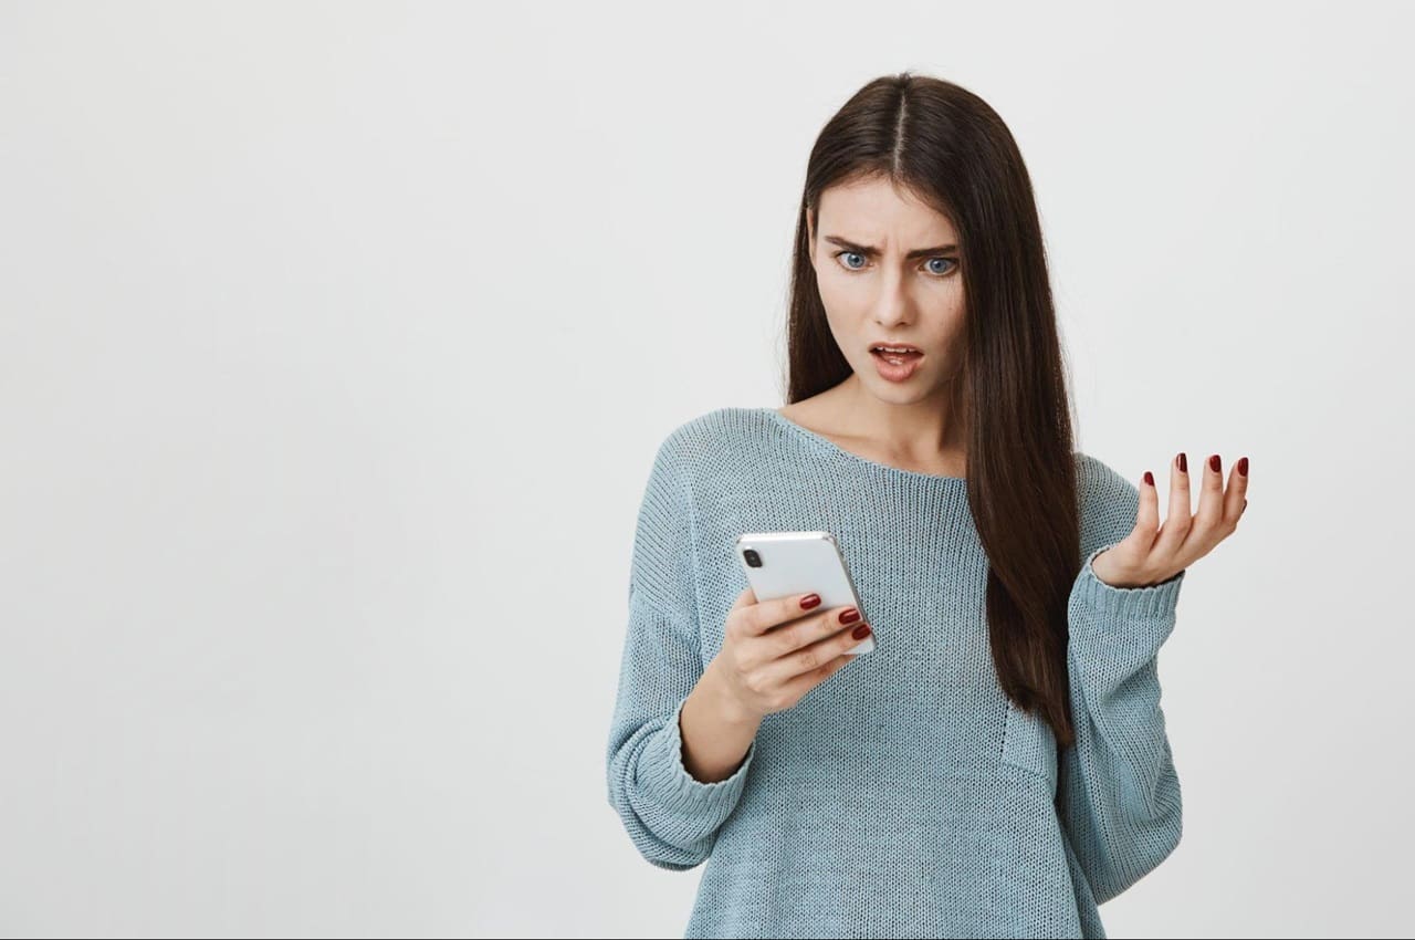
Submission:
[[[1075,743],[1060,755],[1057,813],[1101,905],[1179,845],[1183,811],[1157,655],[1186,572],[1143,588],[1097,578],[1091,562],[1133,528],[1139,490],[1104,463],[1088,467],[1080,487],[1085,561],[1067,602]]]

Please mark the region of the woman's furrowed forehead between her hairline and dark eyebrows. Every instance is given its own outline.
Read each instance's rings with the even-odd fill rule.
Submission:
[[[872,178],[832,185],[821,194],[819,229],[869,245],[903,246],[955,242],[948,217],[917,194],[889,180]]]

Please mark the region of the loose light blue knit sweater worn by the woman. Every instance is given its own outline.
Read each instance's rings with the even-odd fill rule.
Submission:
[[[1156,657],[1184,573],[1143,588],[1091,559],[1139,491],[1077,452],[1068,599],[1077,742],[1002,691],[968,484],[845,450],[774,408],[722,408],[659,445],[628,579],[606,756],[640,854],[705,861],[686,937],[1105,937],[1097,905],[1180,838]],[[741,532],[824,529],[877,648],[767,715],[741,766],[683,766],[679,712],[747,588]]]

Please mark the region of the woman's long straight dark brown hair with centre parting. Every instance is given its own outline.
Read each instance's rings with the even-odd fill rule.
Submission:
[[[954,382],[966,426],[968,505],[988,554],[988,636],[1003,692],[1074,743],[1067,599],[1081,566],[1073,415],[1041,225],[1022,153],[1002,118],[938,78],[865,85],[825,125],[807,166],[788,320],[788,403],[850,367],[831,336],[809,228],[831,185],[882,178],[958,232],[966,340]]]

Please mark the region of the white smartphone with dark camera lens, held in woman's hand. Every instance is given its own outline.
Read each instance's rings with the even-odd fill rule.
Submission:
[[[737,558],[757,600],[815,592],[821,606],[850,606],[860,612],[857,623],[874,623],[860,604],[855,580],[845,565],[841,545],[829,532],[744,532],[737,537]],[[809,612],[802,612],[809,616]],[[873,653],[874,633],[846,653]]]

